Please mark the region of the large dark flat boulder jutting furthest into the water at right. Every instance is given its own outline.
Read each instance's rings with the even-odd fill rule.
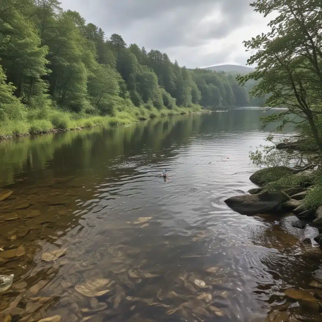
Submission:
[[[246,194],[230,197],[225,203],[242,215],[256,213],[270,213],[279,210],[282,203],[289,200],[289,196],[282,191],[263,191],[259,194]]]

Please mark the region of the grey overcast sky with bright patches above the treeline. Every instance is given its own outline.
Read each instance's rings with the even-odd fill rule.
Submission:
[[[180,66],[246,65],[243,40],[267,32],[251,0],[60,0],[87,23],[120,34],[128,45],[166,52]]]

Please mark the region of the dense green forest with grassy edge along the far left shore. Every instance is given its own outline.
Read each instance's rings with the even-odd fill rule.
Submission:
[[[0,0],[0,135],[259,106],[253,85],[107,37],[57,0]]]

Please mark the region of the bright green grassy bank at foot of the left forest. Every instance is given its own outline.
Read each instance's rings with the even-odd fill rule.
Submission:
[[[35,109],[28,111],[27,118],[24,121],[14,120],[3,125],[0,124],[0,140],[97,126],[125,126],[151,118],[185,115],[200,110],[201,106],[199,105],[189,108],[174,107],[173,109],[164,108],[160,110],[142,106],[116,111],[114,116],[93,116],[56,109]]]

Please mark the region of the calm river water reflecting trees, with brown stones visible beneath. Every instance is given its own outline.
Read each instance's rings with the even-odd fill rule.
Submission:
[[[265,143],[262,115],[230,110],[1,142],[0,197],[12,194],[0,201],[0,274],[15,275],[1,316],[319,321],[284,294],[309,289],[322,263],[316,244],[303,242],[315,229],[223,203],[254,187],[248,152]]]

